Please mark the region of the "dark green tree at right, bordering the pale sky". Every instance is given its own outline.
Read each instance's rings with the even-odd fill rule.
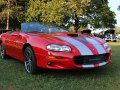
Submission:
[[[116,24],[115,13],[108,7],[107,0],[93,0],[86,12],[86,18],[95,28],[113,28]]]

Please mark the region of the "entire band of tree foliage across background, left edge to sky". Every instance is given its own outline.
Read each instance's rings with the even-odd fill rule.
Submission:
[[[114,27],[115,13],[108,0],[0,0],[0,20],[6,23],[38,21],[59,26],[74,26],[75,32],[87,24],[95,28]]]

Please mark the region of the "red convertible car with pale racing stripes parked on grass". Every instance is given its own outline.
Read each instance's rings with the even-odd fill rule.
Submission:
[[[90,34],[72,33],[37,22],[21,24],[20,31],[1,34],[1,57],[24,62],[28,73],[46,69],[96,68],[111,59],[111,48]]]

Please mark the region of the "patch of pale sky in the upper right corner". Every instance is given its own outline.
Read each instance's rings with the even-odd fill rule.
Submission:
[[[117,10],[118,6],[120,5],[120,0],[108,0],[109,7],[112,11],[116,14],[117,24],[116,26],[120,27],[120,11]]]

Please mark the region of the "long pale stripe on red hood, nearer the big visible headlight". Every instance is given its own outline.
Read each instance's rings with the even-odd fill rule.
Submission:
[[[74,47],[76,47],[79,50],[81,55],[93,55],[91,50],[81,42],[69,37],[64,37],[64,36],[57,36],[57,37],[72,44]]]

